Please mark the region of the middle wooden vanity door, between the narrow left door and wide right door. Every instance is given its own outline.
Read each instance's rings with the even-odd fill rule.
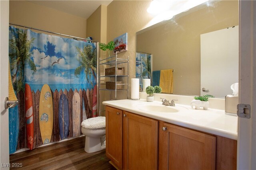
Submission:
[[[123,169],[157,170],[158,121],[124,111],[123,141]]]

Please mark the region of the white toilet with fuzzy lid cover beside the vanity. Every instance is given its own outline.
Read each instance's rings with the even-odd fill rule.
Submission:
[[[86,136],[84,150],[88,153],[106,148],[106,118],[92,117],[81,123],[81,131]]]

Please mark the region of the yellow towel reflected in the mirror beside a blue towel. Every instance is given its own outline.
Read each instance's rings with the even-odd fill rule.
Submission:
[[[160,71],[160,83],[162,93],[173,93],[173,69]]]

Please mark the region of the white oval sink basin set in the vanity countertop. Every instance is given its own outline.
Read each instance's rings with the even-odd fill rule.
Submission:
[[[151,105],[151,104],[142,104],[138,105],[138,109],[143,111],[154,111],[154,112],[164,112],[164,113],[175,113],[179,110],[176,109],[176,106],[164,106],[164,105]]]

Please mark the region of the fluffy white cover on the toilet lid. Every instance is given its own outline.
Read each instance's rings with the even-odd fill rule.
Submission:
[[[92,117],[82,121],[81,126],[85,129],[99,129],[106,127],[106,118],[102,116]]]

